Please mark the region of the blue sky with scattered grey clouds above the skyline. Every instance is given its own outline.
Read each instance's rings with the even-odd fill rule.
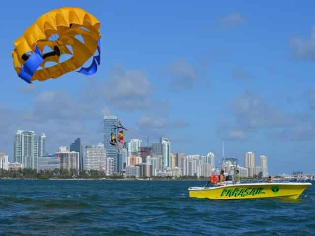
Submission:
[[[13,42],[41,14],[63,6],[100,21],[97,74],[72,72],[26,84]],[[315,172],[315,3],[305,1],[7,1],[0,20],[0,151],[16,130],[45,132],[50,152],[76,137],[102,141],[104,114],[126,135],[172,151],[244,162],[268,156],[269,173]],[[313,33],[312,33],[313,32]],[[312,36],[313,35],[313,36]]]

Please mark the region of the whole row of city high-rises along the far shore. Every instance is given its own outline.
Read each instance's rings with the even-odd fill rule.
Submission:
[[[120,122],[120,121],[119,121]],[[103,118],[103,144],[97,146],[86,146],[85,155],[81,145],[81,138],[76,138],[67,146],[59,147],[55,154],[46,153],[46,135],[41,133],[38,137],[37,150],[36,134],[34,131],[18,130],[15,134],[14,142],[14,163],[9,163],[7,155],[1,158],[1,168],[32,168],[40,170],[76,170],[92,171],[106,173],[106,175],[115,175],[125,173],[126,177],[206,177],[212,174],[219,175],[221,169],[226,174],[235,175],[235,168],[240,171],[241,177],[267,177],[268,166],[267,156],[259,156],[259,166],[255,166],[255,154],[252,151],[245,153],[244,165],[240,166],[235,158],[226,158],[224,156],[224,143],[222,142],[222,157],[218,158],[218,166],[215,165],[215,154],[209,152],[206,155],[173,153],[171,151],[171,142],[166,137],[161,137],[159,143],[147,142],[145,147],[141,139],[130,139],[126,142],[126,149],[116,149],[114,153],[107,155],[105,147],[106,139],[110,139],[112,132],[118,133],[113,129],[118,124],[116,116],[105,116]],[[109,143],[109,142],[108,142]],[[112,146],[109,146],[112,148]],[[29,151],[37,151],[35,158],[30,159]],[[34,152],[35,151],[35,152]],[[24,153],[26,152],[26,154]],[[2,153],[4,154],[4,153]],[[20,163],[18,161],[21,161]],[[33,162],[33,165],[31,165]],[[36,160],[36,161],[34,161]],[[235,160],[237,160],[236,163]],[[84,163],[84,165],[83,165]],[[9,167],[10,166],[10,167]]]

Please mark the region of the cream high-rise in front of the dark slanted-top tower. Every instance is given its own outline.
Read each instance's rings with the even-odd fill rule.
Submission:
[[[60,147],[56,157],[60,158],[60,169],[79,170],[79,152],[69,151],[67,147]]]

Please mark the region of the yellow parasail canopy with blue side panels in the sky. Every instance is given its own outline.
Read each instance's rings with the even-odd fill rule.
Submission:
[[[31,83],[58,78],[82,67],[96,49],[100,54],[99,24],[95,16],[77,7],[63,7],[43,14],[14,41],[14,69]],[[47,47],[49,52],[43,53]],[[63,54],[68,54],[69,59],[60,61]],[[56,64],[46,67],[48,61]],[[100,56],[95,56],[90,67],[78,72],[93,74],[99,62]]]

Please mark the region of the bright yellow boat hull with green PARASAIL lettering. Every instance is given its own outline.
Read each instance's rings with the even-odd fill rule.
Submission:
[[[252,183],[189,188],[189,197],[217,200],[284,198],[297,199],[311,183]]]

